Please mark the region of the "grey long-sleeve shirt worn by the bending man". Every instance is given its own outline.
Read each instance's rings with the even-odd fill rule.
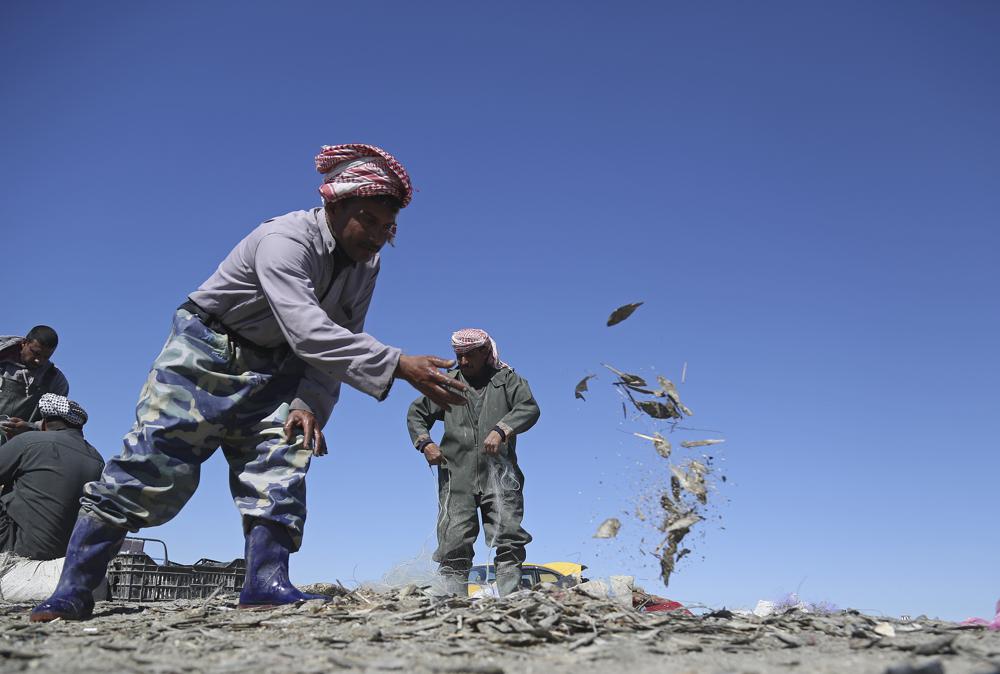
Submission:
[[[400,350],[362,332],[379,256],[349,264],[322,208],[295,211],[254,229],[190,298],[263,347],[287,343],[305,361],[292,409],[325,424],[340,384],[385,398]],[[346,268],[334,274],[334,260]]]

